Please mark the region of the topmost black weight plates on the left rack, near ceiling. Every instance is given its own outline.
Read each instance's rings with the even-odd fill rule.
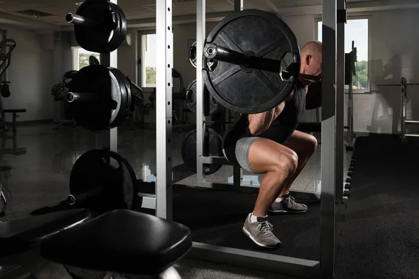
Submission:
[[[122,44],[126,34],[119,31],[119,24],[116,27],[115,23],[112,24],[112,11],[115,11],[115,4],[108,1],[89,0],[82,3],[76,14],[98,22],[98,28],[75,24],[75,38],[80,47],[91,52],[109,53]],[[119,11],[115,15],[121,17]],[[125,17],[123,19],[126,24]],[[115,33],[119,36],[115,36]]]

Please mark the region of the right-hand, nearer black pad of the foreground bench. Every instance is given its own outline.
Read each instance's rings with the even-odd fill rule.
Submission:
[[[120,209],[52,236],[41,255],[85,269],[151,275],[175,264],[191,246],[188,227]]]

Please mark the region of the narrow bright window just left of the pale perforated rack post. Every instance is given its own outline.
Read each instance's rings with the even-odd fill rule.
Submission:
[[[156,87],[156,34],[141,36],[141,87]]]

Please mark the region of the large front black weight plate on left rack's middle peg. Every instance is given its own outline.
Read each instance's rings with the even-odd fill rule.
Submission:
[[[96,93],[98,99],[89,103],[70,103],[75,121],[89,130],[112,128],[122,104],[121,84],[117,77],[105,66],[92,65],[79,70],[78,75],[68,84],[68,92]],[[125,101],[126,102],[126,101]],[[112,105],[115,105],[112,107]]]

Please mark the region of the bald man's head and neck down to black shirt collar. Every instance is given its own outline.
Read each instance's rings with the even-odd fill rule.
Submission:
[[[318,40],[310,40],[302,46],[301,54],[301,67],[300,67],[300,81],[303,84],[309,85],[310,83],[319,82],[322,75],[323,45]]]

